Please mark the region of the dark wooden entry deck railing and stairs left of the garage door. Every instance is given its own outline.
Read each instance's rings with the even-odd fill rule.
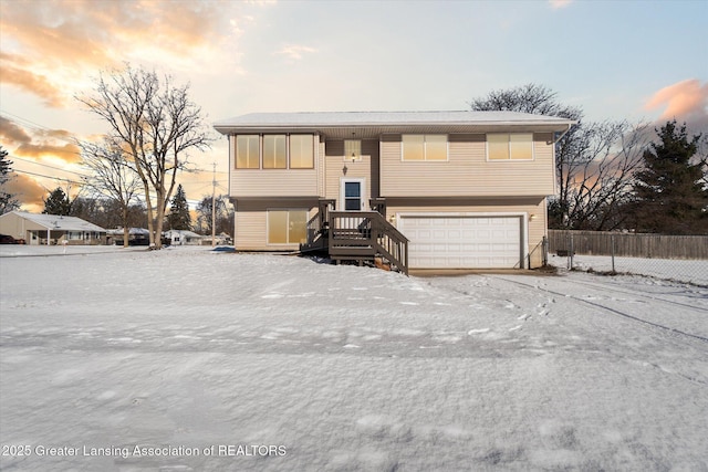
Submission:
[[[408,275],[408,239],[377,211],[330,211],[329,251],[335,260],[381,256]]]

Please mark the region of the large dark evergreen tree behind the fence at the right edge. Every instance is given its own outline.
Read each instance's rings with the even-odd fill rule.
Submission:
[[[634,217],[639,232],[690,234],[708,231],[708,189],[701,183],[705,161],[694,162],[700,135],[690,139],[676,120],[657,129],[659,143],[644,153],[644,169],[634,186]]]

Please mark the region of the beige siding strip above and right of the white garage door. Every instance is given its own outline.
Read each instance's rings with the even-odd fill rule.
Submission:
[[[391,220],[396,213],[527,213],[528,252],[531,254],[531,269],[542,264],[541,243],[546,233],[545,198],[528,197],[516,199],[388,199],[386,214]],[[396,221],[394,219],[394,224]]]

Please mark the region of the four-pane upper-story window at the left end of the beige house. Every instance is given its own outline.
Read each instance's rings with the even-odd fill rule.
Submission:
[[[237,169],[313,169],[313,135],[238,135]]]

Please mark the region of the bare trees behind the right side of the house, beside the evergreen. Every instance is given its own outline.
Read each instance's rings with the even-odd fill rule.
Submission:
[[[579,107],[558,102],[555,92],[535,84],[494,91],[469,103],[477,111],[510,111],[577,120],[555,144],[559,193],[549,199],[549,225],[611,230],[624,221],[622,204],[642,165],[646,126],[585,123]]]

